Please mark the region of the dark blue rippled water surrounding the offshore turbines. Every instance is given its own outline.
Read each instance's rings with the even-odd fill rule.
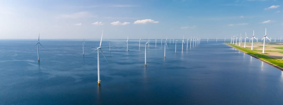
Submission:
[[[283,73],[218,40],[182,44],[98,40],[0,40],[0,104],[283,104]]]

